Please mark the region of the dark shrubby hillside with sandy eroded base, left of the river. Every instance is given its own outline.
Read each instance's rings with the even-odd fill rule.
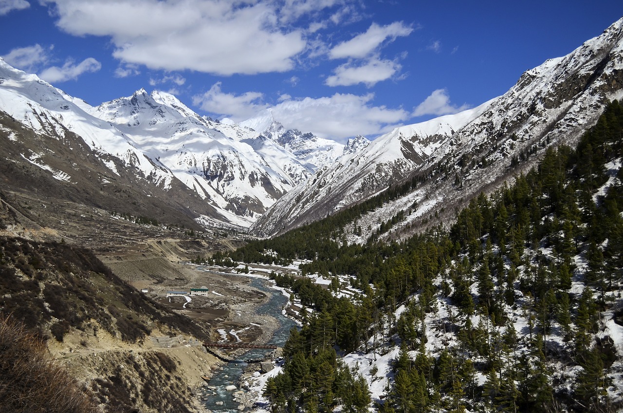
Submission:
[[[0,237],[0,317],[11,316],[48,338],[52,356],[108,412],[196,411],[199,376],[217,364],[199,346],[159,348],[149,338],[183,336],[199,344],[209,337],[207,324],[156,304],[91,251],[64,243]],[[5,409],[14,407],[15,389],[3,390],[0,407],[13,411]],[[19,411],[33,404],[24,406]]]

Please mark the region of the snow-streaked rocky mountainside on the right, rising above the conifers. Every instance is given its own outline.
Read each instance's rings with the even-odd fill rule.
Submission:
[[[623,97],[622,87],[623,19],[567,56],[527,70],[496,99],[399,127],[321,168],[275,203],[252,231],[269,236],[320,219],[414,175],[430,179],[369,220],[369,232],[397,211],[406,215],[402,228],[421,223],[435,205],[457,205],[511,180],[548,145],[576,142],[608,100]]]

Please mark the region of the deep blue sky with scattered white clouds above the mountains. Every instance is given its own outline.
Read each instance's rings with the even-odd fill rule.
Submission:
[[[622,16],[621,0],[0,0],[0,56],[91,105],[144,87],[343,141],[482,104]]]

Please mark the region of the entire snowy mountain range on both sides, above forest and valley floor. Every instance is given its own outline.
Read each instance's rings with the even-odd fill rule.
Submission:
[[[0,59],[2,188],[269,236],[419,176],[360,235],[401,211],[400,236],[512,179],[549,145],[574,143],[623,97],[622,49],[623,19],[476,108],[347,145],[287,130],[270,110],[218,122],[144,89],[92,107]]]

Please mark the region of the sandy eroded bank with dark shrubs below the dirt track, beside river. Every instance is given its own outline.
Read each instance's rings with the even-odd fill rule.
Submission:
[[[201,376],[220,363],[198,346],[77,349],[56,354],[105,410],[203,412]]]

